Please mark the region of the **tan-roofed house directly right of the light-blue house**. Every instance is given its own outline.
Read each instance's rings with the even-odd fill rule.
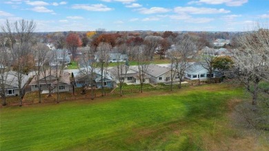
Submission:
[[[117,73],[117,67],[110,68],[108,71],[110,72],[110,74],[112,75],[112,79],[114,79],[116,83],[120,83],[119,79],[124,79],[124,83],[140,84],[139,72],[137,69],[135,69],[135,66],[131,66],[127,70],[126,74],[125,68],[123,68],[123,74],[120,75],[118,75]],[[150,83],[150,76],[148,74],[144,75],[143,83]]]

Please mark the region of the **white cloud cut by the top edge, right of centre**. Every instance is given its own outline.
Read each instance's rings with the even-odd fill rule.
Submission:
[[[226,6],[241,6],[243,3],[248,3],[248,0],[199,0],[199,1],[190,1],[188,4],[211,4],[211,5],[219,5],[225,4]]]

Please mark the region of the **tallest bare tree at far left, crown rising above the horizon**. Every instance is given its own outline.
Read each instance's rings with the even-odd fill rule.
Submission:
[[[13,67],[16,70],[16,76],[19,87],[19,105],[22,105],[23,99],[23,85],[21,85],[24,75],[28,74],[29,65],[32,59],[31,43],[34,37],[34,29],[36,23],[34,21],[26,21],[21,19],[10,23],[8,20],[1,26],[3,36],[7,37],[10,41],[10,51],[12,54],[12,60],[14,62]],[[19,41],[15,41],[17,38]],[[18,42],[18,44],[16,44]],[[23,74],[25,73],[25,74]]]

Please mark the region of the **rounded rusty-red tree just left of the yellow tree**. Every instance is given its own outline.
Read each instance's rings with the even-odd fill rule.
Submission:
[[[77,48],[82,45],[79,34],[70,32],[66,37],[66,44],[72,54],[72,60],[74,60],[77,57]]]

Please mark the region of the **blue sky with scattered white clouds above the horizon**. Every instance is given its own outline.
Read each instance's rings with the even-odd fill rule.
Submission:
[[[37,32],[246,31],[269,22],[269,0],[0,0],[6,19],[34,20]]]

